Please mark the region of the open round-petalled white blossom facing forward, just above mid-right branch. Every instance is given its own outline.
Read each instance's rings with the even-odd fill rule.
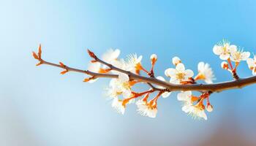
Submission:
[[[170,82],[179,84],[182,81],[187,81],[189,77],[193,77],[194,72],[190,69],[185,69],[184,64],[177,64],[176,69],[170,68],[165,70],[165,75],[170,77]]]

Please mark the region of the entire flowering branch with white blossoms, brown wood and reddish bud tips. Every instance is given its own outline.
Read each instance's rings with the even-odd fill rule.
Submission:
[[[88,74],[91,77],[84,79],[84,82],[95,82],[99,77],[111,78],[107,93],[112,100],[112,107],[118,113],[124,114],[128,104],[136,104],[138,113],[143,116],[155,118],[157,116],[157,101],[159,97],[167,98],[173,91],[181,91],[177,95],[178,101],[183,103],[182,110],[189,115],[198,119],[207,120],[206,111],[212,112],[213,106],[210,104],[209,97],[211,93],[229,90],[232,88],[241,88],[246,85],[251,85],[256,82],[256,77],[248,77],[241,79],[238,77],[236,70],[241,61],[246,61],[252,74],[256,74],[256,56],[249,58],[250,53],[238,49],[236,45],[230,45],[230,42],[223,41],[214,45],[214,54],[219,55],[223,60],[221,63],[222,69],[229,71],[233,75],[233,81],[213,83],[215,80],[214,72],[210,65],[204,62],[197,64],[197,74],[191,69],[186,69],[180,58],[173,57],[172,64],[174,68],[165,70],[164,77],[155,77],[154,66],[157,62],[157,55],[152,54],[149,58],[151,61],[151,69],[145,69],[142,65],[142,55],[131,54],[127,58],[118,58],[121,51],[108,50],[98,58],[91,50],[88,50],[92,61],[89,64],[88,70],[74,69],[63,63],[53,64],[44,61],[41,58],[42,50],[39,45],[38,53],[33,52],[35,59],[39,64],[47,64],[64,69],[61,74],[67,72],[81,72]],[[145,74],[147,77],[143,76]],[[197,83],[200,80],[206,84]],[[134,85],[146,84],[148,90],[136,92]],[[195,96],[192,91],[197,91],[200,96]],[[157,92],[156,96],[152,96]]]

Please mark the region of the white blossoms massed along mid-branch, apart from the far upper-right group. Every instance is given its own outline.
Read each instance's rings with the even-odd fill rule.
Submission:
[[[140,74],[140,72],[145,72],[148,75],[152,76],[154,74],[154,64],[157,61],[157,55],[151,55],[151,71],[144,69],[141,64],[142,55],[138,56],[136,54],[128,55],[127,58],[118,58],[120,55],[120,50],[108,50],[107,53],[102,55],[102,61],[105,61],[107,64],[112,64],[118,69],[122,69],[126,72],[132,72],[133,74]],[[154,77],[157,80],[170,82],[171,84],[195,84],[197,80],[204,80],[206,83],[213,83],[214,73],[209,66],[204,62],[200,62],[197,65],[197,71],[195,74],[191,69],[186,69],[184,64],[181,62],[181,59],[173,57],[172,64],[175,68],[168,68],[165,70],[165,76],[169,77],[170,80],[166,81],[164,77]],[[155,118],[157,116],[157,100],[160,96],[162,98],[167,98],[170,96],[170,91],[165,89],[162,86],[157,85],[159,93],[154,98],[150,99],[151,93],[154,92],[154,89],[150,88],[148,91],[143,93],[136,93],[132,91],[132,86],[139,83],[138,80],[131,80],[129,75],[125,72],[118,72],[116,69],[110,69],[109,66],[102,65],[99,61],[91,61],[89,64],[89,71],[98,72],[98,73],[112,73],[118,74],[118,78],[113,78],[110,80],[109,87],[107,88],[107,94],[112,99],[112,107],[118,113],[124,114],[127,104],[135,103],[138,107],[138,113],[143,116],[148,116],[150,118]],[[94,82],[97,79],[86,80],[89,82]],[[178,93],[178,100],[183,102],[182,110],[188,114],[195,115],[198,118],[207,119],[205,107],[203,105],[204,99],[208,99],[210,93],[204,92],[201,96],[193,96],[192,91],[181,91]],[[140,96],[143,96],[142,99],[138,99]],[[135,101],[137,99],[137,101]],[[208,100],[207,100],[208,101]],[[207,102],[206,110],[211,112],[212,106]]]

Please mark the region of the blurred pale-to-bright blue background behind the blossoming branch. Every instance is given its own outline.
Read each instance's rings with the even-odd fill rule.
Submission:
[[[108,79],[82,82],[83,74],[60,75],[36,67],[31,51],[42,44],[45,60],[86,69],[86,48],[121,57],[158,55],[156,74],[178,55],[188,69],[211,64],[215,82],[232,80],[212,47],[222,39],[256,52],[256,1],[12,1],[0,5],[0,145],[256,145],[256,85],[214,93],[208,120],[181,111],[173,93],[159,100],[157,118],[127,107],[119,115],[106,100]],[[238,74],[251,71],[242,63]],[[142,90],[140,88],[139,90]]]

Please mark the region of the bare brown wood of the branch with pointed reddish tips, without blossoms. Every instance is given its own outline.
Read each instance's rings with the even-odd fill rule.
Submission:
[[[226,90],[230,90],[230,89],[243,88],[247,85],[252,85],[252,84],[256,83],[256,76],[252,76],[252,77],[246,77],[246,78],[238,78],[237,80],[233,80],[233,81],[218,82],[218,83],[214,83],[214,84],[176,85],[176,84],[172,84],[170,82],[158,80],[157,78],[154,78],[154,77],[143,77],[141,75],[134,74],[132,72],[125,71],[123,69],[119,69],[116,66],[113,66],[112,64],[108,64],[107,62],[102,61],[101,59],[97,58],[97,56],[94,55],[94,53],[92,53],[90,50],[88,50],[88,52],[89,52],[89,55],[91,56],[91,58],[94,58],[95,61],[108,66],[112,70],[129,75],[130,80],[138,80],[141,82],[146,82],[151,88],[153,88],[156,91],[165,90],[167,92],[170,92],[170,91],[220,92],[220,91],[226,91]],[[46,64],[46,65],[50,65],[50,66],[56,66],[61,69],[66,69],[67,72],[69,72],[69,71],[80,72],[83,74],[89,74],[89,75],[91,75],[91,77],[94,77],[94,78],[98,78],[98,77],[118,78],[117,74],[101,74],[101,73],[96,73],[96,72],[90,72],[89,70],[75,69],[75,68],[72,68],[69,66],[53,64],[48,61],[42,60],[41,53],[42,53],[41,47],[39,47],[38,56],[36,56],[35,53],[33,53],[34,58],[36,58],[39,61],[38,65]],[[159,85],[165,89],[155,88],[152,84]]]

